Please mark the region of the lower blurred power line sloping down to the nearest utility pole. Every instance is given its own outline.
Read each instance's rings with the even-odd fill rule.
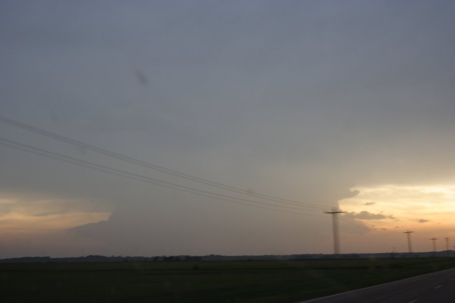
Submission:
[[[252,206],[252,207],[259,207],[259,206],[253,206],[253,205],[246,204],[246,203],[241,203],[239,201],[233,201],[233,200],[230,200],[230,199],[236,199],[236,200],[240,200],[240,201],[245,201],[245,202],[250,202],[250,203],[255,203],[255,204],[260,204],[260,205],[266,205],[266,206],[272,206],[272,207],[289,208],[289,209],[297,209],[297,210],[305,210],[305,211],[315,211],[315,210],[312,210],[312,209],[294,208],[294,207],[287,207],[287,206],[281,206],[281,205],[268,204],[268,203],[263,203],[263,202],[259,202],[259,201],[242,199],[242,198],[237,198],[237,197],[233,197],[233,196],[223,195],[223,194],[214,193],[214,192],[210,192],[210,191],[205,191],[205,190],[192,188],[192,187],[188,187],[188,186],[178,185],[178,184],[174,184],[174,183],[171,183],[171,182],[166,182],[166,181],[162,181],[162,180],[158,180],[158,179],[154,179],[154,178],[149,178],[149,177],[146,177],[146,176],[141,176],[141,175],[134,174],[134,173],[125,172],[125,171],[118,170],[118,169],[111,168],[111,167],[107,167],[107,166],[104,166],[104,165],[99,165],[99,164],[96,164],[96,163],[79,160],[79,159],[76,159],[76,158],[73,158],[73,157],[68,157],[68,156],[65,156],[65,155],[54,153],[53,151],[45,150],[45,149],[42,149],[42,148],[38,148],[38,147],[31,146],[31,145],[15,142],[15,141],[4,139],[4,138],[0,138],[0,144],[5,145],[5,146],[9,146],[9,147],[12,147],[12,148],[20,149],[20,150],[23,150],[23,151],[28,151],[29,153],[40,155],[40,156],[44,156],[44,157],[48,157],[48,158],[52,158],[52,159],[55,159],[55,160],[60,160],[60,161],[63,161],[63,162],[68,162],[68,163],[79,165],[79,166],[83,166],[83,167],[86,167],[86,168],[92,168],[92,169],[100,170],[100,171],[103,171],[103,172],[111,173],[111,174],[114,174],[114,175],[127,177],[127,178],[130,178],[130,179],[133,179],[133,180],[139,180],[139,181],[143,181],[143,182],[147,182],[147,183],[151,183],[151,184],[155,184],[155,185],[160,185],[160,186],[164,186],[164,187],[168,187],[168,188],[172,188],[172,189],[177,189],[177,190],[180,190],[180,191],[191,192],[191,193],[194,193],[194,194],[199,194],[199,195],[202,195],[202,196],[207,196],[207,197],[216,198],[216,199],[220,199],[220,200],[226,200],[226,201],[230,201],[230,202],[237,203],[237,204],[248,205],[248,206]],[[212,195],[216,195],[218,197],[212,196]],[[230,198],[230,199],[226,199],[226,198]],[[264,207],[259,207],[259,208],[264,208]],[[302,213],[275,210],[275,209],[269,209],[269,208],[264,208],[264,209],[273,210],[273,211],[280,211],[280,212],[285,212],[285,213],[293,213],[293,214],[304,215],[304,216],[324,217],[324,216],[318,216],[318,215],[302,214]]]

